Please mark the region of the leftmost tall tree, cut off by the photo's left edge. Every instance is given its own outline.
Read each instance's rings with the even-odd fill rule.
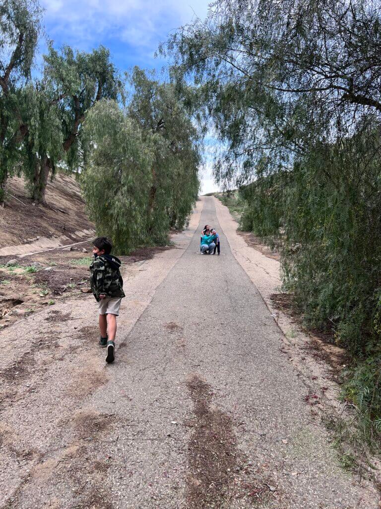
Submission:
[[[38,36],[40,6],[33,0],[0,4],[0,204],[8,175],[20,162],[20,145],[28,132],[22,115],[22,93],[30,80]]]

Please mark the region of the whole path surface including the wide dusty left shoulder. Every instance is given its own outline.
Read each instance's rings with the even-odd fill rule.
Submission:
[[[220,231],[210,198],[178,249],[128,267],[115,364],[91,296],[0,332],[0,507],[378,507],[339,467],[224,233],[220,257],[200,254],[205,223]]]

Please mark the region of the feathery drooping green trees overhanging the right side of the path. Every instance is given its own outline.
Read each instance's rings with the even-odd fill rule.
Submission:
[[[222,0],[162,47],[187,104],[214,124],[214,175],[239,188],[240,228],[278,245],[284,288],[306,325],[350,353],[342,397],[375,447],[380,41],[381,6],[370,0]]]

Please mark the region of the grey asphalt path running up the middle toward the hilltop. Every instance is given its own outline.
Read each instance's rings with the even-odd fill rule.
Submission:
[[[221,256],[200,254],[206,223],[221,232],[212,198],[183,256],[119,337],[109,381],[63,427],[63,466],[17,507],[378,506],[340,469],[225,236]]]

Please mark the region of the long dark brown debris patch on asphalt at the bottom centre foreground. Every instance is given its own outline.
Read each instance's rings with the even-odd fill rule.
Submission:
[[[187,425],[194,429],[188,445],[190,473],[187,477],[189,509],[229,507],[241,499],[242,507],[252,507],[269,496],[267,484],[252,478],[246,459],[237,449],[232,418],[212,409],[209,385],[195,376],[187,382],[195,417]]]

